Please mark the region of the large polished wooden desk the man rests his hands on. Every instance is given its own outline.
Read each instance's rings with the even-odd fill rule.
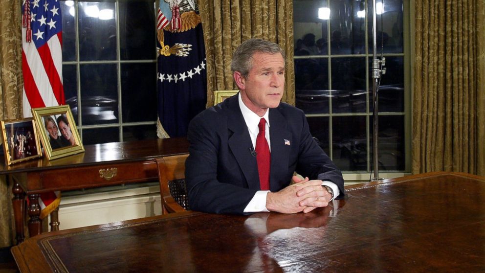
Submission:
[[[29,238],[21,272],[484,272],[485,179],[433,173],[347,188],[334,208],[183,212]]]

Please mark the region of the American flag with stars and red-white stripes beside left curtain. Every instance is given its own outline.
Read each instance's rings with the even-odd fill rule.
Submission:
[[[23,116],[30,109],[63,105],[62,18],[59,0],[25,0],[22,6]],[[41,219],[57,208],[60,192],[39,198]]]

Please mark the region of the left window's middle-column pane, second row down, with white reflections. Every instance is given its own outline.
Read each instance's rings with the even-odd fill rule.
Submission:
[[[83,125],[118,122],[118,84],[115,64],[81,65]]]

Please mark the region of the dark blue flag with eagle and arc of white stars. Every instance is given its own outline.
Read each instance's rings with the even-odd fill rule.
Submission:
[[[197,1],[160,1],[157,40],[157,134],[186,136],[190,120],[207,102],[205,46]]]

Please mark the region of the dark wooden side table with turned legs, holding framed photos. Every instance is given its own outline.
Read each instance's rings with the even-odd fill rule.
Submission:
[[[66,158],[30,160],[6,166],[0,163],[0,174],[14,180],[12,204],[16,239],[21,243],[25,194],[29,199],[30,236],[41,233],[42,220],[39,194],[50,191],[101,187],[158,180],[154,158],[188,153],[186,138],[150,139],[86,145],[86,152]],[[102,170],[108,175],[101,175]]]

